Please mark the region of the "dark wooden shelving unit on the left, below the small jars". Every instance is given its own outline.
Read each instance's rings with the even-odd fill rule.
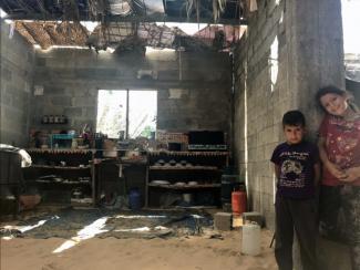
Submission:
[[[73,202],[74,190],[82,201],[95,204],[94,152],[91,149],[27,149],[32,166],[23,168],[28,186],[34,186],[45,202]],[[81,201],[81,199],[78,199]]]

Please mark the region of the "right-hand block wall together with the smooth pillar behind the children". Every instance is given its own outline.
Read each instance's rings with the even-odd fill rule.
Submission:
[[[250,15],[246,38],[234,52],[235,157],[247,176],[250,208],[260,211],[266,226],[274,229],[275,177],[269,159],[275,146],[284,142],[282,114],[301,110],[308,123],[308,139],[315,142],[322,117],[316,107],[316,91],[328,84],[340,87],[344,84],[341,2],[258,0],[257,3],[258,11]],[[276,37],[278,55],[274,60],[271,44]],[[276,63],[278,74],[271,81],[271,66]],[[329,263],[327,258],[335,259]],[[347,247],[322,239],[319,239],[318,262],[320,269],[350,269]],[[298,253],[295,269],[302,269]]]

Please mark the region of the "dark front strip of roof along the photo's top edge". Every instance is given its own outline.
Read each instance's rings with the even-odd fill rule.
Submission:
[[[173,21],[239,24],[246,0],[1,0],[12,20]],[[215,18],[215,19],[214,19]],[[239,19],[240,18],[240,19]]]

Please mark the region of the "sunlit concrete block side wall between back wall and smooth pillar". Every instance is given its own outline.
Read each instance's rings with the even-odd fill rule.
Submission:
[[[281,139],[282,113],[295,106],[294,93],[287,86],[284,12],[285,1],[258,1],[246,37],[234,52],[235,158],[240,174],[247,175],[249,207],[265,216],[268,228],[275,224],[275,177],[269,158]],[[271,55],[271,45],[277,55]],[[272,82],[271,66],[278,68]]]

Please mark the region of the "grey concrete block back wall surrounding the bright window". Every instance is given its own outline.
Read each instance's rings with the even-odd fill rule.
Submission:
[[[34,84],[44,94],[33,96],[32,126],[42,115],[64,114],[79,129],[96,123],[97,90],[157,90],[157,128],[171,131],[220,129],[230,120],[230,62],[226,53],[152,52],[146,58],[91,50],[37,51]],[[179,61],[181,59],[181,61]],[[156,80],[137,79],[138,70],[152,70]],[[172,89],[181,89],[176,98]],[[50,127],[49,127],[50,128]]]

